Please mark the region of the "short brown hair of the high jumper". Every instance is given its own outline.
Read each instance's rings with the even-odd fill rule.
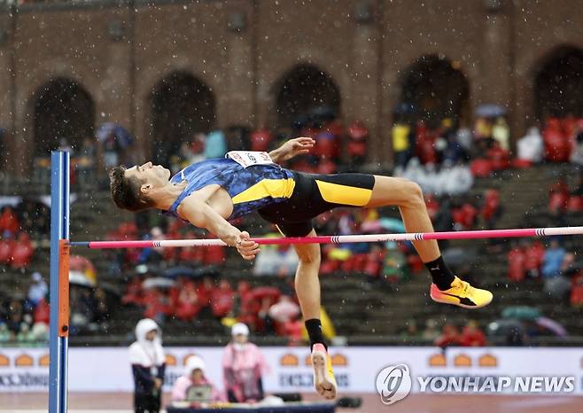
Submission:
[[[127,209],[131,212],[144,211],[152,208],[152,199],[146,197],[140,188],[144,180],[133,176],[125,175],[126,168],[115,167],[109,171],[109,185],[112,189],[113,202],[118,208]]]

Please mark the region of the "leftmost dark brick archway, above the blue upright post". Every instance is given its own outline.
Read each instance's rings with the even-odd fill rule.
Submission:
[[[94,137],[95,102],[81,83],[56,77],[44,83],[33,99],[34,154],[49,155],[66,141],[73,149]]]

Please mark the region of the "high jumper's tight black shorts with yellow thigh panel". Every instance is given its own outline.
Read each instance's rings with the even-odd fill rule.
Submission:
[[[295,187],[292,197],[262,207],[260,216],[275,223],[286,237],[305,237],[311,230],[312,218],[335,207],[364,207],[369,203],[374,175],[311,175],[293,172]]]

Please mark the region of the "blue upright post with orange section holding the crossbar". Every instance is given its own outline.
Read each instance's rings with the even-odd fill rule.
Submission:
[[[49,413],[66,413],[69,334],[69,152],[51,152]]]

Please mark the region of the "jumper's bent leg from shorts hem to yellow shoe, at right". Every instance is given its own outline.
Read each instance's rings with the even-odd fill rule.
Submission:
[[[399,207],[408,232],[433,232],[421,187],[403,178],[375,175],[375,185],[366,207]],[[472,287],[455,277],[441,258],[435,240],[413,241],[431,273],[431,299],[463,308],[481,308],[492,301],[492,292]]]

